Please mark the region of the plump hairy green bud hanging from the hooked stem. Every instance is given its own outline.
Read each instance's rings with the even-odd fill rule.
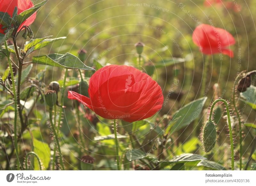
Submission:
[[[214,123],[208,120],[203,128],[203,147],[205,152],[210,152],[216,143],[216,127]]]

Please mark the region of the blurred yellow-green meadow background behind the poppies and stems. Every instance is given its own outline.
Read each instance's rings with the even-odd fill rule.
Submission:
[[[36,1],[34,1],[36,3]],[[34,55],[70,52],[78,55],[81,49],[87,50],[85,64],[93,66],[93,60],[100,64],[136,64],[137,55],[134,44],[143,42],[145,44],[143,51],[143,60],[145,71],[155,79],[163,90],[164,98],[171,90],[171,96],[167,104],[163,106],[159,116],[165,114],[172,115],[182,106],[199,98],[200,86],[203,75],[203,55],[198,47],[192,41],[193,30],[200,23],[212,24],[215,27],[226,29],[234,36],[236,44],[231,46],[234,51],[234,58],[224,55],[220,59],[219,55],[213,55],[205,93],[208,97],[204,106],[204,111],[198,119],[198,125],[191,123],[186,128],[175,132],[172,135],[172,141],[168,142],[168,147],[172,148],[175,155],[182,153],[201,154],[212,161],[220,162],[224,167],[229,166],[229,146],[228,130],[226,127],[226,118],[220,113],[218,121],[218,144],[217,148],[211,154],[205,154],[201,148],[201,142],[198,138],[202,123],[206,120],[210,103],[223,97],[231,100],[231,91],[237,73],[242,70],[255,70],[255,50],[256,50],[256,1],[236,0],[230,1],[232,4],[239,4],[233,8],[225,6],[205,6],[204,0],[59,0],[49,1],[37,13],[36,21],[31,28],[34,31],[35,38],[42,38],[48,35],[53,37],[66,36],[61,41],[56,41],[53,45],[36,51]],[[37,2],[38,3],[38,2]],[[23,40],[18,40],[22,45]],[[32,56],[31,56],[32,57]],[[180,62],[170,66],[162,66],[152,70],[155,64],[163,64],[173,58],[183,58]],[[7,62],[3,61],[4,63]],[[1,67],[2,67],[1,66]],[[136,65],[134,65],[136,67]],[[45,71],[44,71],[45,70]],[[4,72],[4,68],[0,69]],[[40,71],[44,72],[45,85],[51,81],[59,81],[63,77],[64,70],[42,65],[34,65],[31,77],[35,77]],[[68,72],[69,81],[73,74],[77,72],[70,70]],[[238,101],[243,106],[242,101]],[[70,162],[68,169],[78,169],[78,159],[81,156],[77,150],[79,147],[76,140],[76,120],[74,117],[74,105],[71,100],[65,99],[64,105],[67,106],[64,112],[62,124],[62,153],[65,160]],[[240,108],[240,106],[238,106]],[[34,118],[39,119],[32,124],[31,131],[35,138],[47,142],[47,126],[45,125],[44,104],[36,104],[33,112]],[[232,108],[232,107],[231,107]],[[221,107],[222,110],[223,107]],[[114,148],[108,148],[114,144],[114,140],[105,140],[100,143],[92,141],[98,133],[108,135],[112,133],[111,127],[99,122],[92,126],[84,117],[85,111],[80,112],[83,124],[83,131],[86,135],[85,142],[94,154],[95,162],[99,166],[97,169],[111,169],[114,163]],[[247,106],[242,115],[244,122],[255,122],[255,112]],[[157,121],[156,121],[157,122]],[[164,127],[164,121],[158,123]],[[234,123],[234,125],[237,125]],[[38,129],[39,126],[39,129]],[[234,127],[234,131],[237,131]],[[140,129],[141,140],[147,137],[150,127]],[[255,135],[255,130],[250,129]],[[118,131],[124,134],[122,128]],[[24,139],[29,139],[29,134],[24,134]],[[152,135],[152,134],[151,134]],[[244,129],[244,157],[248,157],[251,149],[252,137],[248,135],[248,130]],[[152,142],[153,143],[153,142]],[[235,148],[237,139],[235,139]],[[120,145],[125,143],[120,140]],[[103,145],[103,146],[102,146]],[[23,147],[29,148],[29,145]],[[150,148],[149,148],[150,149]],[[168,153],[168,152],[165,152]],[[220,156],[221,154],[221,156]],[[166,155],[167,156],[167,155]],[[172,156],[172,154],[169,154]],[[252,159],[256,160],[254,153]],[[198,168],[196,168],[198,169]]]

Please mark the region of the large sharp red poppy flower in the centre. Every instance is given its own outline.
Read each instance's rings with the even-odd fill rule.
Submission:
[[[148,74],[132,66],[109,65],[92,75],[89,97],[68,91],[76,99],[106,119],[128,122],[143,120],[162,108],[161,87]]]

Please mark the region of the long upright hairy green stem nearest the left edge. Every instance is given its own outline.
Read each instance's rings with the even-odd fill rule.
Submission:
[[[16,163],[17,163],[17,170],[20,170],[20,161],[19,161],[19,150],[18,150],[18,137],[17,137],[17,110],[18,110],[18,99],[16,96],[16,90],[15,90],[15,81],[14,81],[14,75],[13,75],[13,71],[12,71],[12,63],[10,60],[10,55],[9,55],[9,51],[7,48],[7,43],[6,41],[4,41],[5,44],[5,49],[7,52],[7,58],[8,58],[8,63],[9,63],[9,67],[10,67],[10,73],[11,73],[11,79],[12,79],[12,92],[13,92],[13,97],[14,97],[14,148],[16,151]],[[9,160],[10,161],[10,160]]]

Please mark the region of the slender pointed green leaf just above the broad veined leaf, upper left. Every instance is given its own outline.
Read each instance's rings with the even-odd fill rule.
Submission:
[[[54,43],[55,41],[58,41],[58,40],[61,40],[61,39],[66,39],[66,37],[58,37],[58,38],[53,38],[53,39],[47,39],[48,37],[45,37],[44,38],[41,38],[41,39],[44,39],[44,40],[41,40],[41,39],[38,39],[36,42],[34,42],[35,40],[33,40],[31,43],[30,46],[27,46],[26,50],[28,51],[28,54],[32,53],[33,51],[36,51],[36,50],[40,50],[41,48],[49,45],[49,44],[52,44]],[[40,41],[41,40],[41,41]],[[40,42],[38,42],[40,41]],[[38,43],[37,43],[38,42]],[[36,43],[36,44],[35,44]],[[29,43],[28,43],[29,44]],[[32,46],[33,45],[33,46]],[[26,47],[26,46],[25,46]],[[25,48],[24,48],[25,50]],[[25,51],[26,51],[25,50]]]

